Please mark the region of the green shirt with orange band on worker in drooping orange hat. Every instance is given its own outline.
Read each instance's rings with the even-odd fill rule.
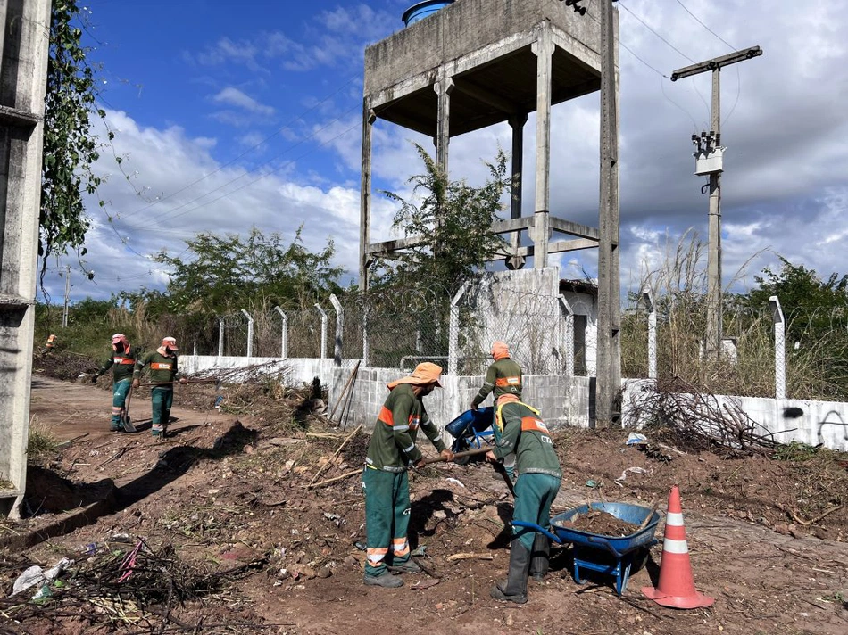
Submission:
[[[409,383],[401,383],[388,393],[380,408],[365,465],[386,472],[404,472],[410,463],[414,464],[421,458],[421,450],[415,447],[419,429],[424,431],[436,450],[441,452],[445,449],[442,435],[427,416],[424,403],[412,392]]]

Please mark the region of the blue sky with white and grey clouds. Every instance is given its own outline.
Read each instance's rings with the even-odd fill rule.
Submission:
[[[459,0],[462,2],[463,0]],[[555,0],[551,0],[555,2]],[[328,239],[355,276],[359,235],[364,46],[403,28],[410,0],[87,3],[87,44],[103,65],[101,106],[112,145],[87,255],[50,262],[46,285],[71,266],[71,301],[162,288],[150,260],[185,250],[193,235],[245,235],[252,225],[287,240],[303,226],[317,251]],[[587,2],[592,12],[596,0]],[[761,45],[765,54],[722,71],[725,284],[752,285],[780,253],[822,276],[848,272],[848,73],[843,3],[789,0],[622,0],[622,287],[640,285],[666,245],[692,228],[706,236],[707,199],[689,140],[708,127],[710,75],[676,83],[672,70]],[[553,108],[552,208],[597,225],[598,99]],[[105,138],[104,124],[96,130]],[[535,119],[526,128],[532,157]],[[375,190],[405,192],[420,170],[415,133],[378,121]],[[511,147],[505,125],[454,137],[452,177],[478,182],[481,160]],[[119,166],[114,156],[120,156]],[[526,183],[532,183],[532,160]],[[529,164],[529,165],[528,165]],[[532,187],[525,213],[532,212]],[[375,196],[372,240],[395,237],[391,205]],[[556,259],[555,259],[556,260]],[[595,271],[594,252],[556,261],[563,277]],[[93,270],[88,281],[83,271]]]

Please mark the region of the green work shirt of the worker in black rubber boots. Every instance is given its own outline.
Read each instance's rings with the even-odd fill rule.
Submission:
[[[518,474],[550,474],[561,478],[560,459],[538,411],[520,401],[505,403],[498,410],[503,433],[492,450],[495,457],[503,458],[514,452]]]

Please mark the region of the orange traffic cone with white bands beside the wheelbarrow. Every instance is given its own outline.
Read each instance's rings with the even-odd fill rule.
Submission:
[[[675,485],[669,494],[669,512],[665,518],[665,540],[662,542],[660,581],[656,588],[643,587],[646,598],[661,606],[672,608],[698,608],[711,606],[714,598],[694,589],[689,546],[686,544],[686,527],[680,507],[680,490]]]

